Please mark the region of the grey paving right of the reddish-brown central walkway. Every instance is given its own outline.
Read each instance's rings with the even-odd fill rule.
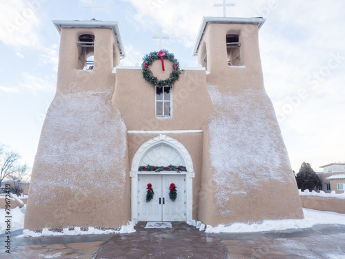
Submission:
[[[229,259],[344,259],[345,225],[258,233],[220,233]]]

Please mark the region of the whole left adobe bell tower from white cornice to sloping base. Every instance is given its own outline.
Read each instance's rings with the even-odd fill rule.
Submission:
[[[112,71],[125,55],[119,25],[53,22],[61,34],[57,91],[32,166],[24,225],[118,228],[130,219],[126,124],[111,103]],[[113,198],[115,189],[121,194]]]

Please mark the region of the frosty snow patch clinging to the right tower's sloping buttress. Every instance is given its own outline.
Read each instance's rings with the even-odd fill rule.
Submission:
[[[215,106],[209,122],[210,164],[213,166],[215,199],[219,213],[227,215],[225,207],[230,195],[259,191],[263,182],[293,181],[288,154],[277,129],[273,106],[264,90],[244,90],[222,93],[218,86],[208,85]]]

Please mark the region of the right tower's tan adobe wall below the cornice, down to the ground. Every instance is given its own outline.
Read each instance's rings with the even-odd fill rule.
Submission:
[[[249,34],[242,33],[245,26]],[[273,104],[264,90],[257,31],[255,25],[213,23],[201,42],[208,53],[206,79],[215,111],[203,128],[198,220],[211,226],[304,218]],[[229,32],[239,32],[244,66],[227,64]]]

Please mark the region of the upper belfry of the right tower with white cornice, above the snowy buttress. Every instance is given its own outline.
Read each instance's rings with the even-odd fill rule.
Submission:
[[[193,55],[211,84],[264,89],[258,32],[266,19],[204,17]]]

